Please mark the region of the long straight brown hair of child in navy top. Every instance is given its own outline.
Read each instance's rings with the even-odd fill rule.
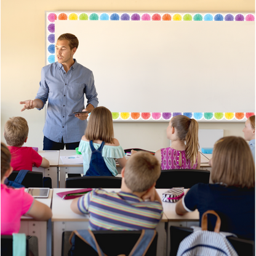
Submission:
[[[252,188],[256,185],[254,159],[249,145],[241,137],[223,137],[215,143],[212,182]]]

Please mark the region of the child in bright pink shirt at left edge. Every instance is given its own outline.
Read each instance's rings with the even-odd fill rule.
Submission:
[[[0,234],[11,235],[20,230],[20,217],[24,214],[35,220],[48,220],[52,210],[46,204],[36,201],[24,188],[14,189],[4,185],[4,180],[12,173],[10,151],[0,143]]]

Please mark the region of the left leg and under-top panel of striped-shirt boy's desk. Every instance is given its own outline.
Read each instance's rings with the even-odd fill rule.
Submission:
[[[53,222],[54,256],[62,255],[62,233],[64,231],[87,230],[89,222]]]

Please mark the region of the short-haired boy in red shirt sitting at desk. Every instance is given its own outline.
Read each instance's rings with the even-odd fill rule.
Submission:
[[[4,125],[4,138],[12,155],[10,166],[14,170],[32,170],[33,166],[49,168],[50,163],[30,146],[22,146],[28,139],[28,123],[17,116]]]

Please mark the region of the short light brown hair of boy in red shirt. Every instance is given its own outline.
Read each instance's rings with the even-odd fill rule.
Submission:
[[[10,118],[4,125],[4,138],[9,146],[22,146],[28,137],[28,123],[25,118]]]

